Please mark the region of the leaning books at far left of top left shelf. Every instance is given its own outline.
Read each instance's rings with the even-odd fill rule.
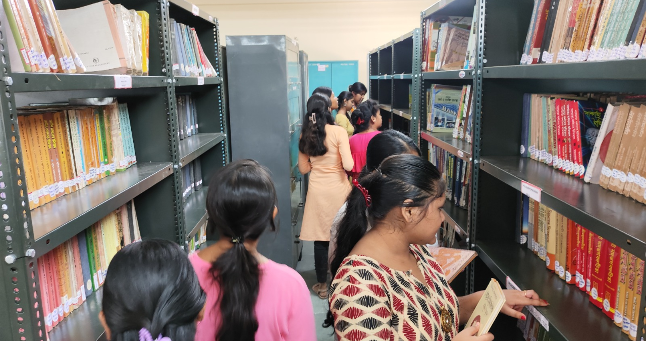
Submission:
[[[9,43],[10,58],[21,61],[24,71],[85,72],[82,53],[65,35],[64,20],[52,0],[6,0],[3,10],[11,30],[8,36],[14,39]]]

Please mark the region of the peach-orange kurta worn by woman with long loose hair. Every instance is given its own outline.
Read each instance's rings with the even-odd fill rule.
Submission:
[[[309,175],[309,188],[305,201],[300,239],[329,241],[329,230],[334,216],[346,202],[350,182],[346,170],[352,170],[354,162],[350,153],[348,132],[339,126],[325,127],[325,145],[328,153],[318,157],[298,152],[298,170]]]

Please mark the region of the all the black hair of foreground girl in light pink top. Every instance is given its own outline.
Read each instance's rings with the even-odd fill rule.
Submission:
[[[255,339],[260,269],[244,241],[257,240],[267,229],[276,230],[273,213],[277,201],[269,171],[255,160],[233,161],[220,169],[209,183],[207,233],[217,233],[220,238],[234,242],[211,265],[211,274],[220,285],[215,309],[220,309],[222,315],[222,325],[213,335],[214,340]]]

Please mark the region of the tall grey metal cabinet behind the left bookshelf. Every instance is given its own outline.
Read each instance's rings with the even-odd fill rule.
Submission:
[[[287,36],[227,36],[231,156],[255,159],[271,171],[278,192],[278,230],[258,249],[296,267],[304,206],[298,138],[304,113],[298,45]]]

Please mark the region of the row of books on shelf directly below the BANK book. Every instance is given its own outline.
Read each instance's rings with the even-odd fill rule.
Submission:
[[[442,173],[446,182],[446,200],[455,206],[468,207],[470,195],[471,163],[456,157],[452,153],[428,144],[430,162]]]

